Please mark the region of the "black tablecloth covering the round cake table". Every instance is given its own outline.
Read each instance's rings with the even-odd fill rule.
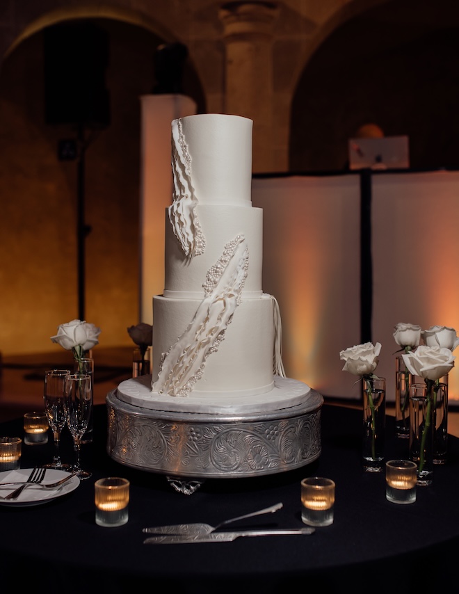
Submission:
[[[64,461],[72,460],[70,434]],[[0,425],[1,435],[22,435],[22,419]],[[176,492],[165,476],[131,469],[106,453],[106,407],[95,407],[95,441],[83,445],[81,463],[92,477],[47,504],[0,506],[2,576],[21,581],[35,569],[35,592],[72,593],[168,588],[190,592],[277,592],[314,588],[328,593],[428,591],[455,577],[459,553],[459,440],[449,436],[447,464],[433,485],[417,488],[411,505],[389,503],[385,476],[361,465],[362,413],[341,406],[321,410],[322,453],[301,469],[261,478],[208,479],[193,495]],[[408,440],[395,437],[387,417],[386,457],[408,458]],[[23,446],[22,467],[47,463],[46,446]],[[300,481],[320,475],[336,483],[335,522],[312,536],[239,538],[232,543],[143,545],[143,527],[209,522],[282,501],[277,513],[234,528],[301,527]],[[129,522],[95,524],[94,483],[103,476],[131,481]],[[24,573],[26,572],[26,574]],[[300,584],[298,584],[300,580]]]

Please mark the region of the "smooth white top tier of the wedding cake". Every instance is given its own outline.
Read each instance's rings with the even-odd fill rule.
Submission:
[[[185,160],[190,190],[199,204],[251,205],[252,123],[219,113],[172,122],[175,147],[178,142],[178,156]]]

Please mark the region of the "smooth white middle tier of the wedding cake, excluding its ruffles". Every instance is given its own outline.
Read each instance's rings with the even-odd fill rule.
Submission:
[[[206,241],[204,253],[186,257],[170,225],[166,211],[164,297],[203,298],[202,285],[225,244],[243,234],[248,246],[248,274],[242,289],[245,297],[261,296],[263,266],[263,211],[259,208],[198,204],[196,216]],[[154,317],[156,323],[156,317]]]

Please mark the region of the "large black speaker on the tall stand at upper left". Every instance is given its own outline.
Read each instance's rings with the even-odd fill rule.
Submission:
[[[108,33],[80,21],[47,27],[43,36],[45,122],[107,127]]]

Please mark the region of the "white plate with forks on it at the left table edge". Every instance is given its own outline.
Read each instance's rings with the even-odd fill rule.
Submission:
[[[22,490],[22,493],[17,499],[3,499],[3,497],[6,497],[8,493],[14,491],[19,485],[2,487],[1,483],[26,481],[31,472],[31,468],[18,468],[17,470],[5,470],[4,472],[0,472],[0,505],[21,507],[45,504],[47,501],[56,499],[56,497],[67,495],[67,493],[75,490],[80,483],[78,476],[72,476],[70,481],[67,481],[67,483],[64,483],[61,487],[56,489],[44,489],[39,485],[29,485]],[[65,476],[69,476],[69,474],[71,473],[65,472],[64,470],[47,468],[43,483],[46,484],[60,481],[61,479],[64,479]]]

